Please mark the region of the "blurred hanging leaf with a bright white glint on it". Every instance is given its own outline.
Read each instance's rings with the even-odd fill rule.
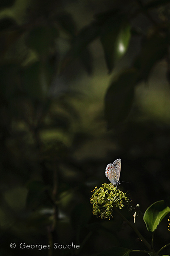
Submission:
[[[115,62],[127,51],[130,41],[130,24],[120,17],[111,17],[102,26],[100,41],[109,73],[111,73]]]

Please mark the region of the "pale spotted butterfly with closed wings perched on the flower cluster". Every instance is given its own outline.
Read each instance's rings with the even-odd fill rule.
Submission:
[[[112,163],[109,163],[106,167],[105,175],[108,177],[110,182],[113,185],[120,185],[119,177],[120,177],[120,169],[121,169],[121,160],[118,158]]]

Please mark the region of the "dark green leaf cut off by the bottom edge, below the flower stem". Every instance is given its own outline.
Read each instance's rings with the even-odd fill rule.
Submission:
[[[128,256],[132,250],[122,247],[111,247],[97,256]]]

